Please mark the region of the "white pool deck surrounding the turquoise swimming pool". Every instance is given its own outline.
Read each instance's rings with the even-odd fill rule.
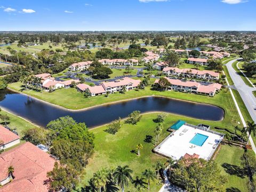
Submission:
[[[208,136],[202,146],[190,143],[190,140],[193,139],[196,133]],[[186,153],[189,155],[197,154],[199,158],[209,160],[218,147],[219,142],[222,140],[222,137],[223,136],[219,134],[195,129],[188,125],[182,125],[179,130],[171,133],[154,150],[158,154],[172,157],[176,160],[183,157]]]

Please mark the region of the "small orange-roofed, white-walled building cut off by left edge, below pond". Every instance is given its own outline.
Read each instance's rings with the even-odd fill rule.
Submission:
[[[20,137],[0,125],[0,150],[8,149],[20,143]]]

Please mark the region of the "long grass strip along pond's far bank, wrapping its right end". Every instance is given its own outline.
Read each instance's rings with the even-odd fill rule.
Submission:
[[[154,79],[153,79],[154,81]],[[21,83],[13,83],[9,84],[11,89],[21,91]],[[70,89],[60,89],[55,90],[52,93],[43,91],[35,92],[33,90],[26,90],[23,93],[32,95],[38,99],[42,99],[55,105],[59,105],[68,109],[83,109],[95,105],[101,105],[109,102],[115,102],[125,99],[133,99],[138,97],[145,97],[147,95],[159,95],[169,98],[182,99],[188,101],[209,103],[212,105],[220,106],[225,110],[225,118],[222,121],[218,121],[214,123],[214,126],[227,128],[231,131],[234,130],[236,125],[241,126],[238,122],[241,122],[235,108],[234,102],[231,98],[229,91],[222,90],[220,93],[216,94],[214,97],[207,97],[205,95],[197,95],[197,94],[189,94],[189,93],[181,93],[175,91],[153,91],[150,90],[150,87],[146,87],[145,90],[140,91],[127,91],[125,94],[122,93],[114,93],[110,94],[109,97],[105,97],[105,95],[100,95],[98,97],[89,97],[85,98],[82,93],[78,92],[74,88]],[[212,127],[214,127],[212,126]]]

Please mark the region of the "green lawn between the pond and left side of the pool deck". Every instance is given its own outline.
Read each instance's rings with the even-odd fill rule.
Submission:
[[[85,169],[85,177],[82,181],[82,187],[87,184],[87,181],[92,178],[94,172],[107,167],[114,169],[118,165],[129,165],[134,171],[133,178],[140,176],[141,172],[145,169],[150,169],[157,160],[166,162],[166,158],[154,154],[151,150],[155,144],[155,127],[153,119],[156,118],[157,113],[142,115],[141,121],[137,125],[123,124],[121,130],[117,134],[109,134],[104,130],[107,126],[100,126],[91,131],[95,135],[95,153],[93,158]],[[159,142],[161,142],[168,134],[166,130],[178,119],[182,119],[190,124],[197,125],[199,123],[209,124],[209,121],[202,121],[199,119],[188,118],[184,116],[178,116],[173,114],[167,114],[164,129]],[[215,122],[211,122],[212,126]],[[151,142],[145,142],[146,135],[152,137]],[[131,153],[136,149],[136,145],[141,143],[143,149],[140,151],[141,155],[137,156]],[[225,161],[225,158],[223,158]],[[150,191],[158,191],[162,187],[157,184],[158,181],[151,182]],[[130,183],[130,187],[126,191],[135,191],[134,187]]]

